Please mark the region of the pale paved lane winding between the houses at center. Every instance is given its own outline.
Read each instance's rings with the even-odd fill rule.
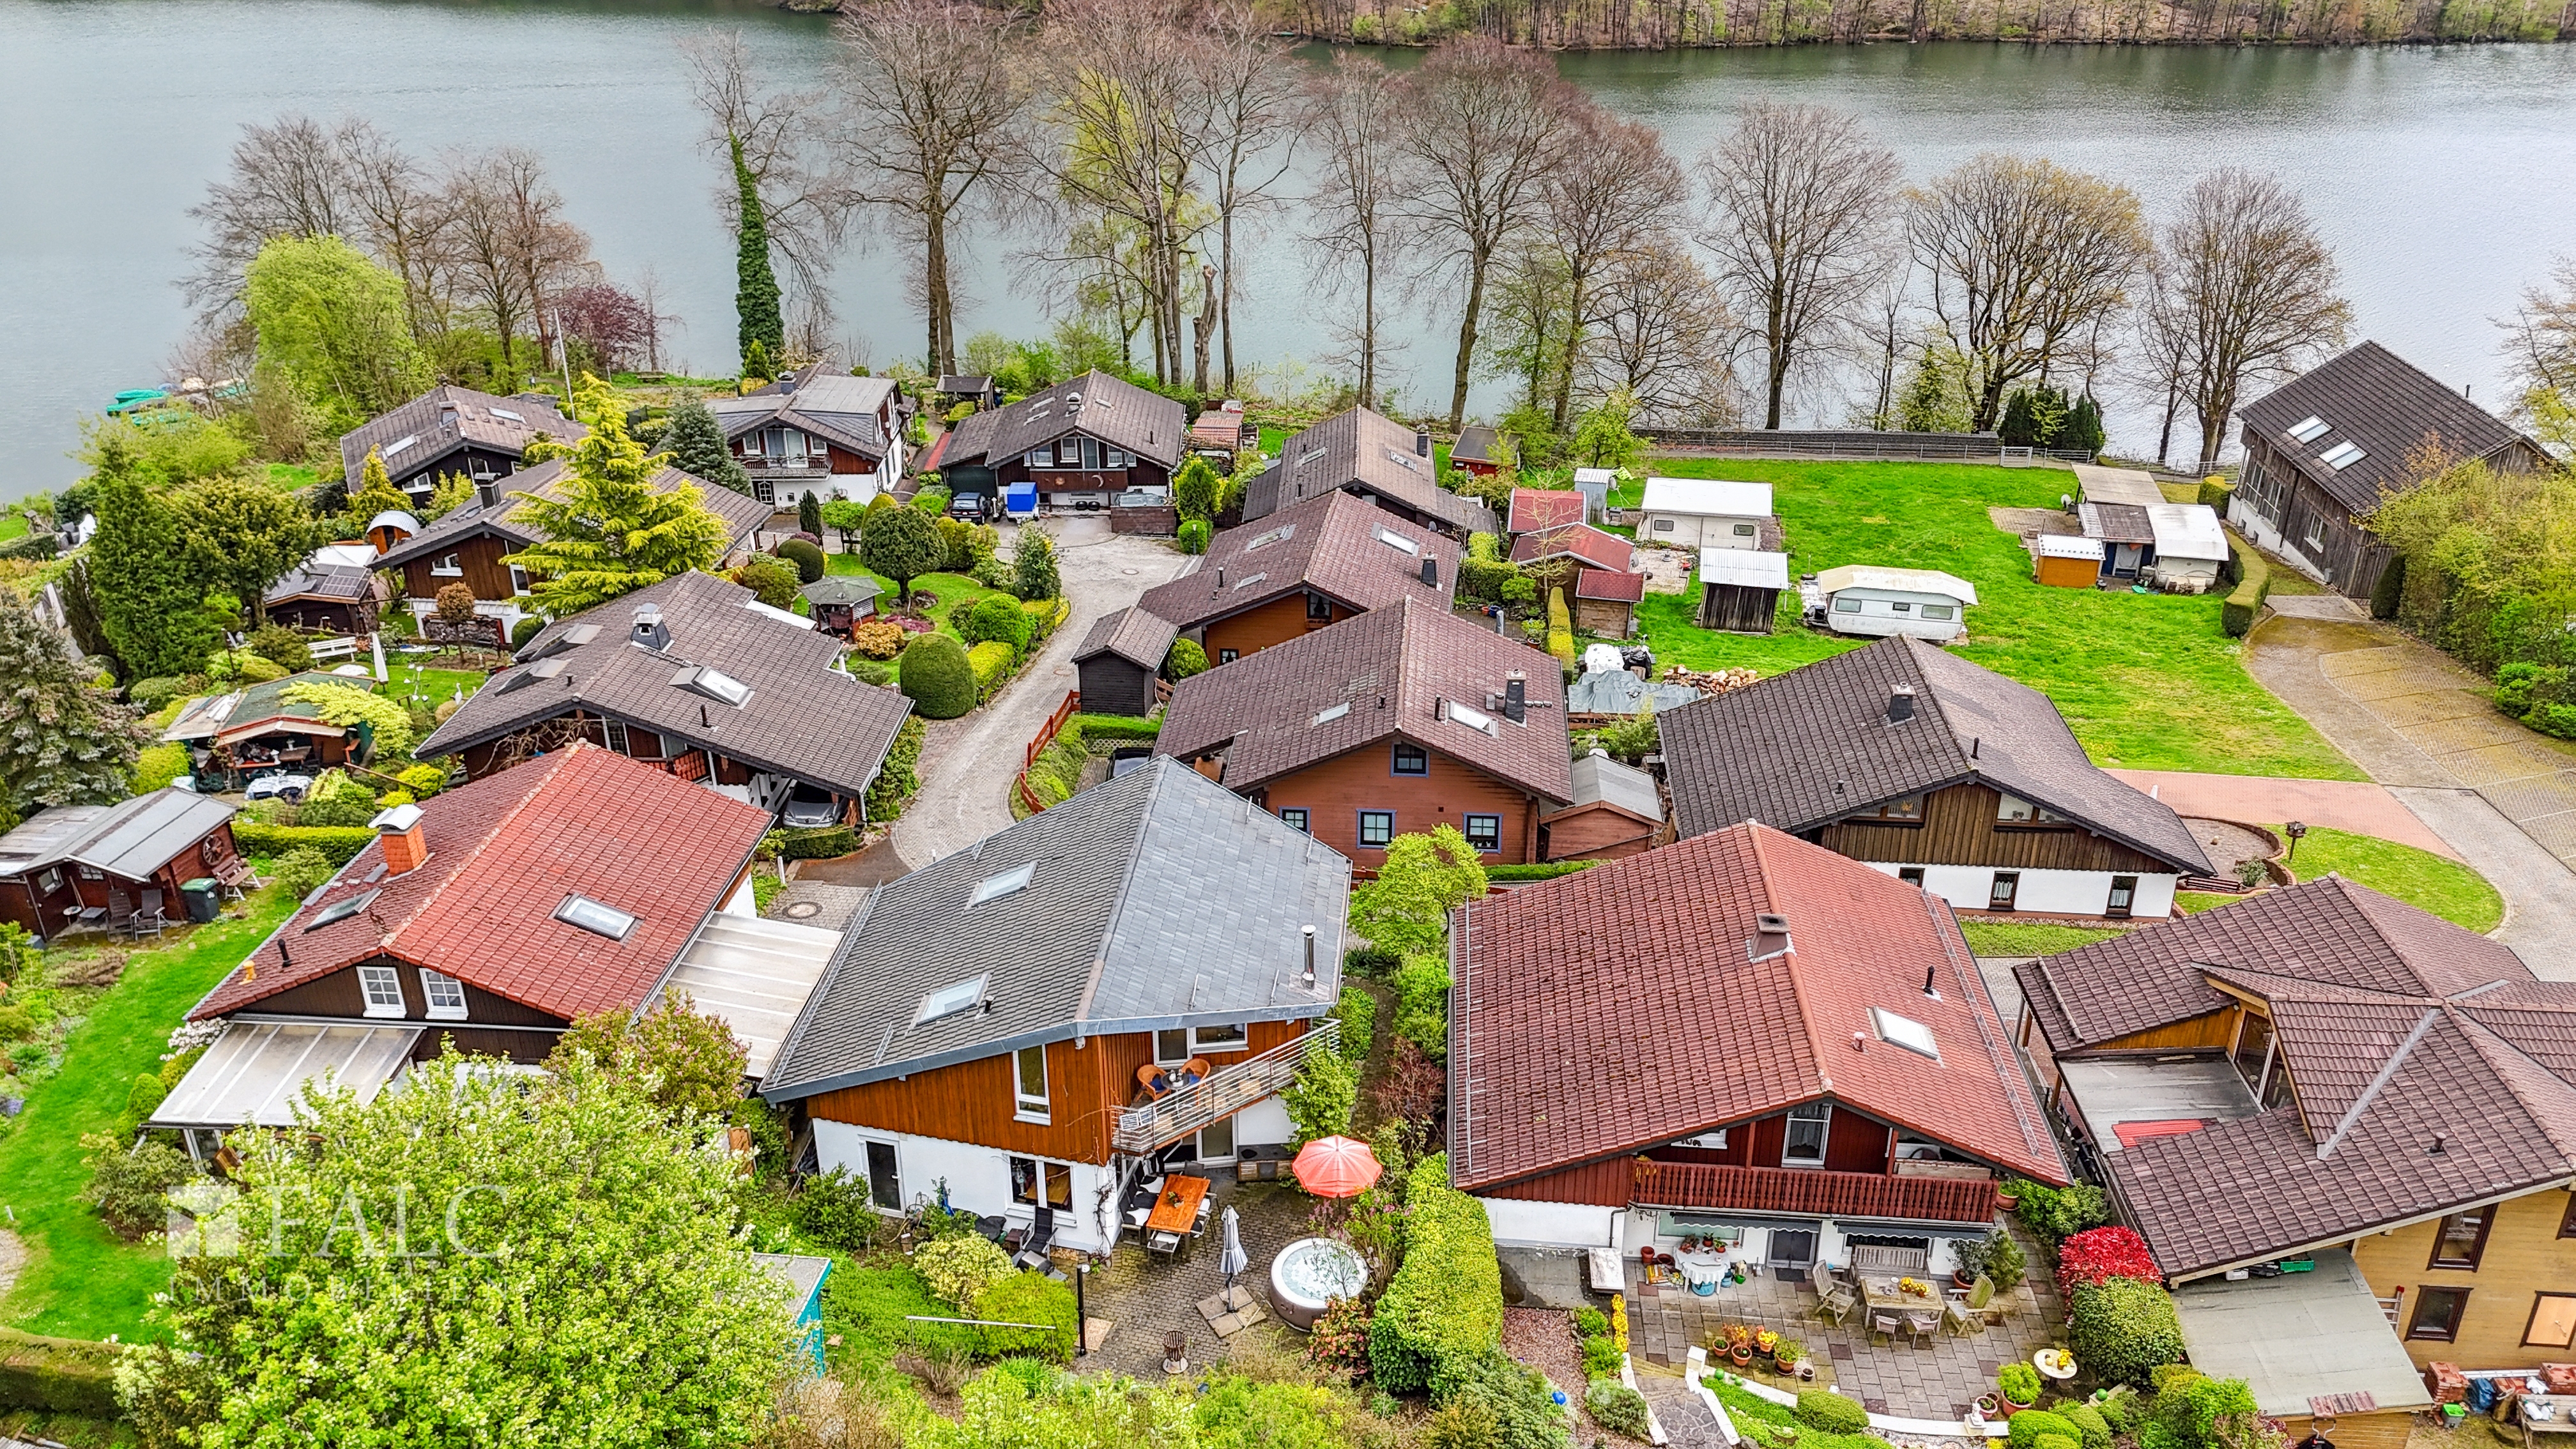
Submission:
[[[1046,523],[1056,536],[1056,570],[1072,616],[999,699],[963,719],[930,724],[922,745],[922,792],[894,822],[894,853],[920,869],[1010,825],[1010,781],[1020,750],[1074,688],[1074,650],[1103,614],[1190,565],[1162,539],[1110,534],[1108,518],[1074,516]]]

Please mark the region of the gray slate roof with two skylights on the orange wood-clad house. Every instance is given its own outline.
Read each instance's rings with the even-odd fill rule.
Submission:
[[[1036,866],[1023,890],[971,905],[1018,866]],[[1072,1036],[1324,1016],[1347,908],[1350,861],[1154,761],[878,887],[760,1091],[796,1101]],[[976,977],[981,1011],[917,1021],[930,993]]]

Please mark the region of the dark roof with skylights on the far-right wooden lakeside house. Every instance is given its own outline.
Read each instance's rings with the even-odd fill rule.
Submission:
[[[2246,433],[2262,433],[2280,456],[2295,459],[2308,480],[2354,513],[2378,505],[2383,487],[2414,482],[2406,459],[2432,438],[2470,459],[2512,449],[2543,459],[2537,443],[2378,343],[2362,343],[2275,387],[2236,415]],[[2324,420],[2326,431],[2300,443],[2290,428],[2308,418]],[[2326,467],[2321,456],[2336,443],[2354,443],[2362,456],[2342,469]]]

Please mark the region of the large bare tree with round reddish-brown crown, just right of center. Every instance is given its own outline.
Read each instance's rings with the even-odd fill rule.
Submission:
[[[1445,237],[1443,263],[1466,278],[1458,364],[1450,376],[1450,428],[1466,420],[1476,364],[1476,325],[1494,255],[1540,206],[1540,180],[1556,165],[1569,88],[1538,52],[1486,36],[1453,36],[1412,75],[1404,144],[1422,168],[1417,224]]]

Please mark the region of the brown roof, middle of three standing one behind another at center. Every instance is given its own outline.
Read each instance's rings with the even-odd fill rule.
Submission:
[[[1401,539],[1412,549],[1386,539]],[[1432,559],[1437,585],[1422,583],[1422,559]],[[1208,541],[1208,557],[1195,570],[1144,590],[1139,603],[1182,629],[1198,629],[1306,590],[1360,611],[1386,608],[1399,598],[1448,608],[1458,590],[1458,544],[1363,498],[1327,492],[1226,529]]]

